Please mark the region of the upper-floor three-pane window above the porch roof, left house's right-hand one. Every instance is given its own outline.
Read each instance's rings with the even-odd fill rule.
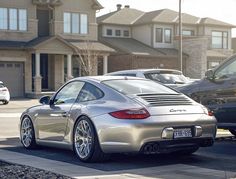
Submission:
[[[88,15],[65,12],[64,33],[88,34]]]

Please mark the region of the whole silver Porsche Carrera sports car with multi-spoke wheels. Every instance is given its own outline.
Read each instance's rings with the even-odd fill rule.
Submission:
[[[40,103],[21,116],[23,146],[68,148],[84,162],[110,153],[191,154],[216,135],[205,107],[146,79],[75,78]]]

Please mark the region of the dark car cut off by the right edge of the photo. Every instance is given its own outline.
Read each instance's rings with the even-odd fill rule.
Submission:
[[[236,55],[206,72],[206,77],[178,88],[215,115],[218,128],[236,136]]]

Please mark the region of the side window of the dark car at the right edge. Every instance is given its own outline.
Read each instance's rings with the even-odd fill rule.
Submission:
[[[236,57],[233,60],[231,60],[226,66],[219,69],[215,73],[216,79],[224,79],[230,77],[236,78]]]

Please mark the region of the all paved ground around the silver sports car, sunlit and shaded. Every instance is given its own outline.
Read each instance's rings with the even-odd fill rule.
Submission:
[[[152,178],[236,178],[236,138],[232,136],[220,135],[213,147],[201,148],[190,156],[116,154],[112,155],[108,162],[88,164],[80,162],[73,152],[68,150],[48,147],[36,150],[24,149],[17,137],[19,116],[23,109],[24,107],[14,107],[14,105],[0,106],[0,150],[11,152],[15,156],[47,159],[58,164],[63,163],[63,167],[67,165],[84,167],[87,169],[86,174],[89,174],[90,170],[109,174],[133,171],[134,174],[143,173],[142,177],[137,177],[143,178],[150,177],[148,173],[152,171],[155,172]],[[120,179],[120,175],[117,178]],[[136,177],[132,175],[130,178]]]

